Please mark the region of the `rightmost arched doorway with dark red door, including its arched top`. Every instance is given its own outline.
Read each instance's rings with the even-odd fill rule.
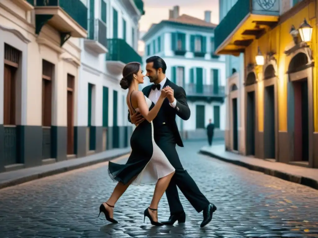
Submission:
[[[308,163],[309,161],[308,83],[310,88],[312,83],[308,82],[308,72],[312,74],[312,66],[304,52],[297,53],[288,66],[287,131],[290,138],[291,162]]]

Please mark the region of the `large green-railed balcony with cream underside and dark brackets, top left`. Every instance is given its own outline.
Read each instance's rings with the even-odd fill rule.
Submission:
[[[69,37],[87,37],[87,8],[80,0],[35,0],[36,34],[47,23],[61,34],[61,46]]]

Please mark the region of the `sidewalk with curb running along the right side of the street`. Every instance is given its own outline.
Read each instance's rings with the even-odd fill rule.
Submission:
[[[199,153],[229,162],[247,169],[256,170],[290,182],[318,189],[318,169],[311,169],[280,162],[271,162],[225,151],[225,145],[204,146]]]

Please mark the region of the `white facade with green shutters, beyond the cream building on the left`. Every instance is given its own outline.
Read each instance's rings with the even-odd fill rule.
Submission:
[[[126,63],[138,55],[142,1],[88,0],[88,38],[81,42],[78,143],[80,154],[129,145],[127,90],[119,82]]]

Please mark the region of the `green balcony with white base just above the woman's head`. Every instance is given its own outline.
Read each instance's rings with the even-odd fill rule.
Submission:
[[[129,62],[142,63],[141,56],[123,39],[107,39],[107,47],[106,66],[115,75],[121,74]]]

